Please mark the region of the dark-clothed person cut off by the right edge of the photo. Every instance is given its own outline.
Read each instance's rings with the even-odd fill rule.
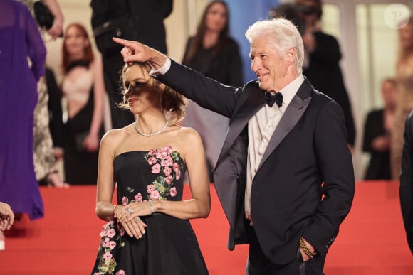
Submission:
[[[413,111],[406,118],[403,139],[399,195],[407,243],[413,254]]]

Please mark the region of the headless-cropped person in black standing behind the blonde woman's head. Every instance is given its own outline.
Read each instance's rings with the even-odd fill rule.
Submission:
[[[172,13],[173,2],[173,0],[92,0],[90,6],[93,32],[95,33],[97,28],[105,26],[110,21],[129,15],[133,23],[125,26],[127,34],[125,36],[122,33],[121,37],[140,41],[162,53],[167,53],[164,19]],[[130,30],[131,28],[133,31]],[[102,53],[105,87],[110,98],[112,128],[120,129],[135,121],[131,112],[126,112],[118,106],[122,102],[120,70],[124,63],[119,55],[122,48],[115,43],[111,48],[103,48],[98,40],[96,44]]]

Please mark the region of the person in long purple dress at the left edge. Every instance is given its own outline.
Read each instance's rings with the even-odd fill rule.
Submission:
[[[0,201],[32,220],[43,217],[33,166],[33,111],[45,60],[46,48],[26,6],[0,1]]]

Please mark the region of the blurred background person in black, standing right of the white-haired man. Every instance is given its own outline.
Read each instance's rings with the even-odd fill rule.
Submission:
[[[397,104],[397,83],[392,78],[382,81],[385,107],[372,110],[365,122],[363,151],[370,153],[365,180],[390,180],[390,133]]]

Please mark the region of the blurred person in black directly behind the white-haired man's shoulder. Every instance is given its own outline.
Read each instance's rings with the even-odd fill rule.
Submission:
[[[340,68],[340,45],[334,36],[324,33],[318,26],[323,15],[321,0],[296,0],[296,6],[299,16],[305,21],[303,75],[343,109],[347,142],[352,149],[355,144],[355,122]]]

